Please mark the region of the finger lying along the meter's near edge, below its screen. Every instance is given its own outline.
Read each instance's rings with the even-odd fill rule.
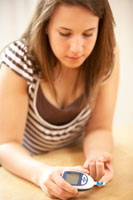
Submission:
[[[72,185],[70,185],[68,182],[66,182],[59,174],[54,173],[52,180],[63,190],[68,192],[71,195],[77,195],[78,190],[74,188]]]

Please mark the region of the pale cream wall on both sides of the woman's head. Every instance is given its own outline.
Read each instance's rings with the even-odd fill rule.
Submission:
[[[21,36],[37,0],[0,0],[0,49]],[[120,48],[120,83],[114,127],[133,124],[133,0],[109,0]]]

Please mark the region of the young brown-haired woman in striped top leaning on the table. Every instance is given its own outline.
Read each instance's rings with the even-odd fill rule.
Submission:
[[[26,32],[2,52],[0,163],[50,197],[68,199],[77,190],[61,178],[64,167],[33,154],[83,140],[84,165],[68,169],[106,183],[113,177],[113,26],[107,0],[39,0]]]

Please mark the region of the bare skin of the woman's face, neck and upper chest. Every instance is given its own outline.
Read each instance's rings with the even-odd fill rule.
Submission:
[[[78,15],[80,15],[80,19],[77,21]],[[59,60],[59,64],[55,68],[56,80],[54,83],[59,103],[56,102],[54,95],[50,94],[48,83],[42,81],[41,86],[47,99],[58,108],[68,106],[83,92],[82,75],[78,83],[78,90],[74,94],[73,87],[79,66],[91,54],[95,46],[98,22],[98,17],[80,6],[59,5],[51,17],[46,33],[51,48]],[[58,73],[59,65],[61,66],[60,74]],[[71,86],[69,86],[69,90],[68,82]]]

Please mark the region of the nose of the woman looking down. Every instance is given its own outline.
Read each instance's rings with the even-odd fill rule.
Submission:
[[[80,38],[73,38],[70,41],[70,52],[76,56],[80,56],[83,52],[83,41]]]

